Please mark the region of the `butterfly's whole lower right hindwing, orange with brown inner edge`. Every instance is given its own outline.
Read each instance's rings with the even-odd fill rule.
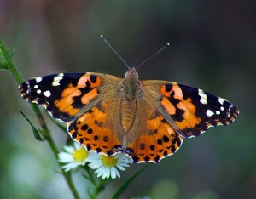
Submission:
[[[138,122],[133,132],[131,129],[131,133],[136,133],[137,136],[131,139],[125,153],[131,156],[133,162],[160,162],[162,158],[171,156],[180,148],[183,137],[145,99],[138,106],[137,116],[139,122],[146,126],[143,127]]]

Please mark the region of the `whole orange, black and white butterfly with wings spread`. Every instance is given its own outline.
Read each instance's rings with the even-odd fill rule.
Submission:
[[[159,162],[183,138],[227,125],[238,109],[226,99],[177,82],[140,81],[136,68],[125,78],[108,74],[60,73],[19,86],[23,99],[44,106],[67,122],[70,136],[88,151],[123,152],[134,163]]]

